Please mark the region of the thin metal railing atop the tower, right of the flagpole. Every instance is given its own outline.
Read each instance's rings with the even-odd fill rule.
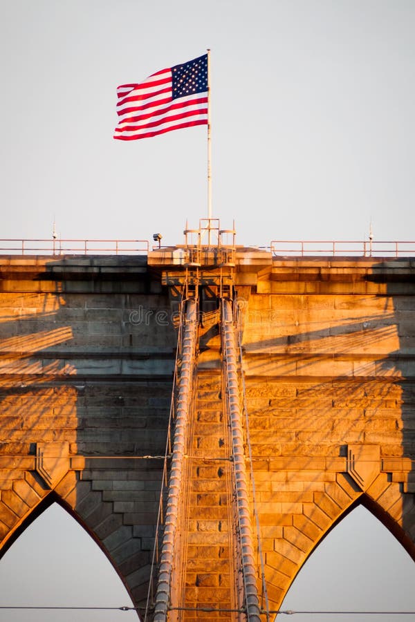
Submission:
[[[311,257],[415,257],[415,242],[409,241],[311,241],[273,240],[273,256]]]

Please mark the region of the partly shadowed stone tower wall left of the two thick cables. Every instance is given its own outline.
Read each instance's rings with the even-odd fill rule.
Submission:
[[[151,293],[140,258],[0,264],[10,276],[0,292],[3,550],[59,500],[140,602],[163,470],[163,458],[142,456],[165,453],[176,349],[168,292]],[[71,462],[51,486],[35,455],[56,442]]]

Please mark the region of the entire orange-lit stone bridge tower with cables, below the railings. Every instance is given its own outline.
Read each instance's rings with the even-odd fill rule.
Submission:
[[[198,248],[0,257],[0,536],[58,500],[142,619],[265,621],[359,503],[415,558],[415,258]]]

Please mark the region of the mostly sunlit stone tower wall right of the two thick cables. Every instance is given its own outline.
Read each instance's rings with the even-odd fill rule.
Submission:
[[[414,502],[403,493],[414,489],[411,460],[404,473],[390,462],[414,459],[414,303],[406,288],[397,299],[381,283],[373,293],[354,285],[346,292],[350,273],[338,285],[332,276],[324,288],[306,290],[306,276],[286,287],[276,274],[277,283],[258,288],[267,293],[251,294],[245,309],[247,442],[275,608],[309,552],[358,500],[389,527],[390,519],[399,525],[395,534],[415,554]],[[356,443],[380,451],[367,490],[345,473],[347,447]],[[284,527],[272,550],[273,514],[284,516]]]

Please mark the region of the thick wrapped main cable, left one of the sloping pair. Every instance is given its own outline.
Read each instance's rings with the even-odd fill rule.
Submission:
[[[187,301],[186,323],[183,334],[183,359],[180,381],[178,384],[172,466],[170,468],[169,493],[165,513],[165,532],[160,556],[160,569],[158,572],[154,622],[165,622],[167,620],[167,611],[169,607],[174,562],[174,544],[178,525],[183,460],[185,456],[186,431],[192,397],[192,377],[196,352],[196,316],[196,301]]]

